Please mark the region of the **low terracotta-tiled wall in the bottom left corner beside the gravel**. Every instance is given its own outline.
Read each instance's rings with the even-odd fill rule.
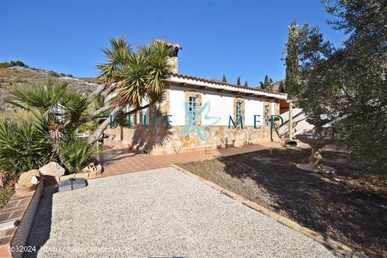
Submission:
[[[27,243],[43,185],[43,181],[39,181],[37,186],[20,188],[1,210],[0,223],[18,221],[18,225],[0,231],[0,257],[23,257],[20,247]]]

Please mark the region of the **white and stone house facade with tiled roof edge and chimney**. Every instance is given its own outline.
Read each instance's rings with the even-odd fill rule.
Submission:
[[[129,148],[158,155],[205,148],[245,146],[278,139],[271,130],[286,94],[236,86],[177,72],[165,79],[163,103],[131,115],[126,122],[112,119],[105,134]]]

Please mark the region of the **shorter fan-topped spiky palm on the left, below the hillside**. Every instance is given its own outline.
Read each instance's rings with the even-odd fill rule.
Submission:
[[[8,101],[9,103],[34,114],[33,121],[25,128],[30,128],[36,137],[40,137],[39,141],[48,143],[62,165],[71,172],[62,149],[66,144],[70,144],[69,142],[75,141],[75,131],[91,104],[89,95],[72,91],[68,89],[66,82],[54,79],[18,86],[11,89],[10,94],[12,100]],[[8,127],[3,127],[3,135],[6,135],[8,130]],[[83,150],[88,148],[90,147]],[[20,150],[24,152],[23,146]],[[42,155],[49,153],[51,151],[45,148]],[[30,159],[33,160],[34,157],[30,156]]]

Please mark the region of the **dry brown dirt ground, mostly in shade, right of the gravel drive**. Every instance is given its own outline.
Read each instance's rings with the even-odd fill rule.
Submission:
[[[387,257],[387,179],[324,151],[334,176],[305,172],[309,149],[276,148],[179,166],[372,257]]]

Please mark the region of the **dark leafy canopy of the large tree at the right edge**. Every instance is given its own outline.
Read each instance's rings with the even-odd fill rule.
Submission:
[[[367,168],[386,172],[387,3],[324,4],[336,16],[329,24],[348,39],[334,47],[318,27],[293,22],[286,44],[286,91],[308,116],[328,117],[341,142],[360,155]]]

